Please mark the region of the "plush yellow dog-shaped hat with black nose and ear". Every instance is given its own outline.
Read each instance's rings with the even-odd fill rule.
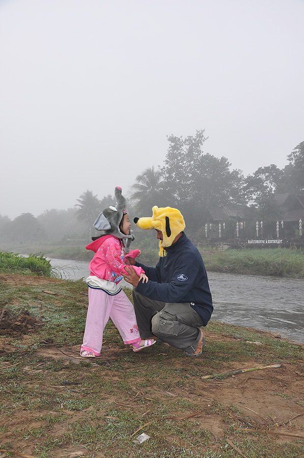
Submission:
[[[158,229],[163,233],[163,240],[160,240],[161,257],[164,256],[164,250],[167,246],[171,246],[175,237],[185,229],[185,221],[183,215],[176,208],[157,206],[152,209],[153,215],[151,218],[134,218],[134,222],[140,229]]]

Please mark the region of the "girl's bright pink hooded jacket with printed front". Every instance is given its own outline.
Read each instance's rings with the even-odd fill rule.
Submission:
[[[121,241],[114,236],[100,237],[85,247],[96,254],[89,263],[90,275],[96,275],[103,280],[118,283],[123,279],[121,274],[128,275],[124,264],[125,254]],[[136,257],[139,250],[131,250],[127,257]],[[132,266],[137,275],[144,273],[141,267]]]

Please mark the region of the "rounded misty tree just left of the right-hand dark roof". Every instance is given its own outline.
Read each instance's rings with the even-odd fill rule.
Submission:
[[[275,164],[259,167],[245,180],[244,193],[247,202],[259,206],[268,197],[275,194],[284,177],[284,171]]]

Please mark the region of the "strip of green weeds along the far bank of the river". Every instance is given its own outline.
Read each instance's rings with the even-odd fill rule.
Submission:
[[[139,248],[142,249],[140,260],[146,265],[155,266],[159,260],[159,250],[146,249],[140,246]],[[10,251],[10,247],[6,247],[6,250],[2,251],[0,263],[9,262],[8,251]],[[55,259],[89,262],[94,255],[92,251],[87,251],[83,245],[17,245],[14,246],[14,251],[21,254],[39,253],[30,255],[28,264],[29,269],[33,269],[33,272],[42,272],[44,269],[46,271],[49,270],[47,261],[43,261],[44,256]],[[219,249],[199,247],[199,251],[203,257],[207,271],[304,278],[304,250],[302,249],[248,248],[222,251]],[[18,263],[17,256],[11,253],[11,257],[12,267],[9,268],[15,269]]]

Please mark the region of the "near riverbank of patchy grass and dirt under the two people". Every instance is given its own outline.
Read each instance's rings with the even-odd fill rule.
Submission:
[[[199,358],[133,353],[109,323],[101,356],[84,360],[86,306],[82,281],[1,273],[1,456],[304,456],[302,346],[211,321]]]

